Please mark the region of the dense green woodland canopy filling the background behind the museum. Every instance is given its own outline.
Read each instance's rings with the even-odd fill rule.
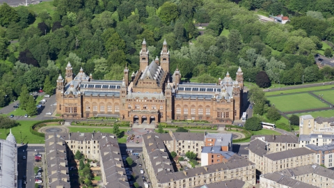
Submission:
[[[319,70],[314,58],[321,40],[334,42],[332,1],[238,2],[54,0],[34,5],[49,6],[35,13],[3,3],[0,97],[8,97],[1,97],[0,106],[16,99],[23,84],[29,92],[45,85],[51,91],[68,61],[74,74],[82,67],[95,79],[120,80],[126,64],[130,72],[138,70],[144,38],[150,61],[159,56],[166,39],[170,73],[178,67],[185,80],[216,83],[226,72],[235,79],[239,65],[244,80],[253,83],[259,72],[267,74],[266,83],[333,79],[333,68]],[[287,8],[298,13],[290,16]],[[291,22],[262,23],[255,9],[287,15]],[[207,26],[198,28],[198,23]],[[326,55],[331,56],[329,50]],[[262,114],[265,103],[255,104],[255,111]]]

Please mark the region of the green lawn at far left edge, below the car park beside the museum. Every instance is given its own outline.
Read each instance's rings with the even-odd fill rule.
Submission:
[[[38,120],[17,120],[20,123],[20,126],[13,127],[12,133],[15,136],[17,143],[21,143],[21,134],[22,133],[22,141],[24,143],[44,143],[44,137],[36,136],[31,134],[30,127],[33,123],[38,122]],[[7,132],[7,134],[6,134]],[[0,139],[6,139],[9,134],[9,130],[0,129]]]

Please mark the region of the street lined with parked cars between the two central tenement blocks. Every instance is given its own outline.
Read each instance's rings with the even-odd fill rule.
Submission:
[[[140,154],[139,154],[140,155]],[[134,187],[134,182],[137,182],[139,187],[144,188],[144,180],[143,177],[145,177],[145,181],[148,180],[148,176],[146,174],[146,169],[143,167],[143,161],[139,155],[122,155],[123,162],[125,164],[125,170],[127,172],[127,177],[130,183],[130,186]],[[134,163],[132,166],[127,166],[126,158],[131,157]],[[141,173],[141,169],[143,169],[144,173]],[[134,179],[133,179],[134,177]]]

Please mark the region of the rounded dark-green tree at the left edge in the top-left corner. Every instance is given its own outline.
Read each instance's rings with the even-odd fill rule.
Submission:
[[[3,3],[0,6],[0,25],[8,26],[13,22],[17,22],[19,20],[19,15],[14,8],[8,6],[7,3]]]

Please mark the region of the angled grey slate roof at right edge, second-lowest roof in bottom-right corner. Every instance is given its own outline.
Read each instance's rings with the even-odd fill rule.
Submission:
[[[276,173],[282,173],[283,175],[287,175],[289,177],[313,173],[334,180],[333,171],[330,169],[326,169],[318,164],[308,164],[305,166],[299,166],[292,169],[284,169],[283,171],[277,171]]]

